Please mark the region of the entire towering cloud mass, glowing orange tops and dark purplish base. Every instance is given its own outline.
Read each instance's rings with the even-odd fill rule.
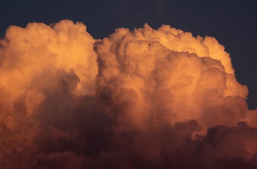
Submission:
[[[256,169],[257,109],[213,37],[83,23],[0,40],[0,168]]]

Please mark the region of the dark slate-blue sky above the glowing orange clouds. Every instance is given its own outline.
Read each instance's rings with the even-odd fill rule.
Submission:
[[[215,37],[230,53],[237,80],[249,88],[248,106],[257,108],[257,2],[255,0],[9,0],[0,2],[0,36],[9,25],[58,22],[87,25],[94,38],[118,27],[168,24],[194,36]]]

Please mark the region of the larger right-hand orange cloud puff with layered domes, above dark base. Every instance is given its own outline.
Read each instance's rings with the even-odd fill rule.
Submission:
[[[95,50],[97,94],[109,93],[107,105],[114,105],[124,123],[144,128],[149,120],[195,119],[210,127],[245,118],[247,87],[236,81],[228,54],[214,38],[145,25],[132,32],[118,28],[96,42]]]

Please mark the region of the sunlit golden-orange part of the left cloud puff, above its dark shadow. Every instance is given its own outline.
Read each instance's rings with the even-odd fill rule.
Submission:
[[[94,94],[97,64],[93,42],[86,26],[69,20],[51,27],[42,23],[29,23],[26,28],[10,26],[0,41],[0,93],[9,105],[25,93],[31,107],[42,100],[38,90],[55,83],[44,79],[46,76],[39,80],[38,74],[45,69],[72,69],[80,77],[76,92]]]

